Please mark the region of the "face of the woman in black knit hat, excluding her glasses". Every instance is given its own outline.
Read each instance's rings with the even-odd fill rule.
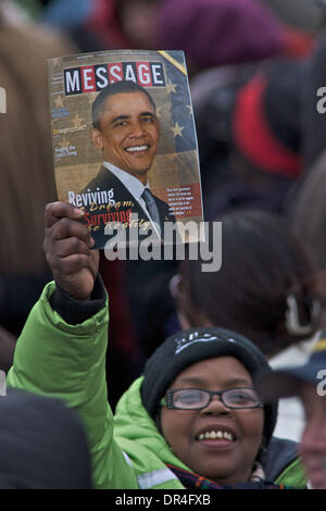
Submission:
[[[170,388],[224,390],[251,386],[251,376],[241,362],[234,357],[218,357],[190,365],[175,378]],[[262,444],[263,426],[262,408],[229,409],[218,396],[214,396],[202,410],[171,410],[163,407],[161,411],[162,432],[175,456],[195,473],[221,484],[250,478]],[[211,432],[226,433],[226,438],[212,438],[216,436],[214,434],[203,435]]]

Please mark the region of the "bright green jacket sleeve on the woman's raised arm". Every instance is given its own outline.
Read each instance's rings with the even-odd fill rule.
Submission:
[[[133,468],[113,437],[108,403],[106,304],[95,316],[70,325],[52,310],[50,283],[17,340],[8,387],[61,398],[80,416],[88,438],[96,488],[137,488]]]

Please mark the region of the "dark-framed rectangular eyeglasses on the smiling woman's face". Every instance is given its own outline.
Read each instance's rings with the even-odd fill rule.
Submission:
[[[166,391],[161,406],[171,410],[201,410],[213,396],[218,396],[226,408],[262,408],[263,401],[252,387],[234,387],[226,390],[202,390],[200,388],[174,388]]]

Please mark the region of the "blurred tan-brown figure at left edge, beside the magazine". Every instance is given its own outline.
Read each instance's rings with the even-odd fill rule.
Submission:
[[[42,210],[55,197],[47,58],[75,48],[55,33],[12,16],[0,3],[0,370],[12,364],[15,338],[50,274],[42,251]],[[16,12],[16,11],[15,11]]]

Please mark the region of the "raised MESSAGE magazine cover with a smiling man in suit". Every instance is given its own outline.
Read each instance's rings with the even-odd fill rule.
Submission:
[[[48,70],[58,199],[85,211],[95,248],[114,236],[125,246],[149,235],[198,241],[202,198],[184,52],[101,51],[51,59]]]

